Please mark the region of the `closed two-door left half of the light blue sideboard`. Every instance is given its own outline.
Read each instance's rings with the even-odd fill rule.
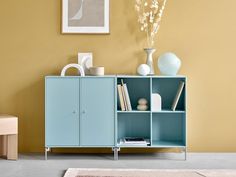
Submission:
[[[46,77],[47,148],[115,145],[115,78]]]

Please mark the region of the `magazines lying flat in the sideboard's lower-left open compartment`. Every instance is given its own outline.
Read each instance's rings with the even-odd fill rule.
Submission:
[[[121,146],[149,146],[150,140],[140,137],[125,137],[120,139]]]

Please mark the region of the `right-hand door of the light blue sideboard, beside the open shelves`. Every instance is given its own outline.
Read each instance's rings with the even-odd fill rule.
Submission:
[[[115,78],[81,78],[80,145],[115,145]]]

